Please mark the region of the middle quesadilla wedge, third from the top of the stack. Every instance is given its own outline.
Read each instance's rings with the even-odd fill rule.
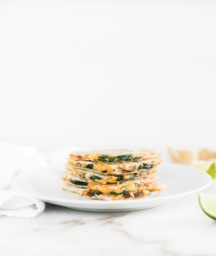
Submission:
[[[112,184],[116,183],[117,185],[123,183],[125,180],[129,179],[136,179],[136,178],[144,178],[148,175],[156,174],[158,171],[158,167],[154,167],[150,170],[142,170],[139,172],[133,172],[133,173],[127,173],[122,175],[105,175],[97,172],[93,172],[90,170],[82,170],[82,169],[76,169],[72,167],[66,167],[66,170],[68,171],[67,175],[69,177],[69,174],[74,174],[77,177],[81,177],[83,179],[89,180],[89,181],[96,181],[98,183],[102,184]]]

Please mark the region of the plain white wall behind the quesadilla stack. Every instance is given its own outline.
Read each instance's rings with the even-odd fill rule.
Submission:
[[[0,86],[0,141],[216,149],[216,2],[0,0]]]

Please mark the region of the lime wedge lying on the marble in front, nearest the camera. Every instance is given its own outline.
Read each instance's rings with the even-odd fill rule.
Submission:
[[[210,218],[216,220],[216,196],[199,194],[199,204],[203,212]]]

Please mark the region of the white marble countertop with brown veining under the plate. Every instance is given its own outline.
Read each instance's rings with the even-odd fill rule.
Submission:
[[[215,191],[213,182],[204,192]],[[132,212],[85,212],[46,204],[35,218],[0,218],[2,256],[215,255],[216,221],[198,193]]]

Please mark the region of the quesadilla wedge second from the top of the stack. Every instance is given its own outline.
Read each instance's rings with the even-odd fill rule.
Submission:
[[[84,170],[92,170],[94,172],[103,174],[126,174],[134,173],[140,170],[151,169],[158,166],[163,161],[164,157],[155,156],[141,161],[133,161],[126,163],[110,164],[106,162],[91,162],[85,160],[73,160],[71,158],[67,161],[67,168],[78,168]]]

